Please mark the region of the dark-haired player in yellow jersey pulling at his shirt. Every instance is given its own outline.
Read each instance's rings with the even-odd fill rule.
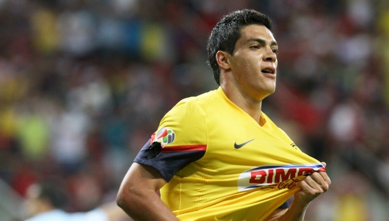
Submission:
[[[139,220],[302,220],[331,181],[325,163],[261,111],[275,92],[277,50],[265,15],[224,16],[207,47],[219,88],[164,116],[124,178],[119,206]]]

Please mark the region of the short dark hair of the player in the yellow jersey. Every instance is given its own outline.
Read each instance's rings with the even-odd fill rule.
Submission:
[[[229,13],[215,25],[208,39],[208,64],[211,66],[214,78],[220,85],[220,69],[216,62],[216,53],[225,51],[232,55],[235,43],[241,37],[241,29],[245,26],[258,24],[271,31],[271,20],[266,15],[255,10],[239,10]]]

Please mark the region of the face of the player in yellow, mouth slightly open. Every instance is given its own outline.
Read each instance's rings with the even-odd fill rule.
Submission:
[[[245,98],[261,101],[275,92],[277,50],[276,40],[265,26],[242,28],[229,60],[234,83]]]

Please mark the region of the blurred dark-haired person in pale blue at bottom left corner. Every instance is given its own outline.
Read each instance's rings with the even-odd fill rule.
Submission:
[[[68,213],[63,210],[67,194],[60,182],[32,184],[26,193],[26,221],[124,221],[131,220],[114,202],[108,202],[87,212]],[[127,216],[127,217],[126,217]]]

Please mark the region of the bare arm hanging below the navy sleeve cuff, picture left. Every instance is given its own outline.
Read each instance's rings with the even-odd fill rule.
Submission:
[[[116,203],[135,220],[178,220],[158,194],[165,184],[156,169],[134,162],[122,181]]]

